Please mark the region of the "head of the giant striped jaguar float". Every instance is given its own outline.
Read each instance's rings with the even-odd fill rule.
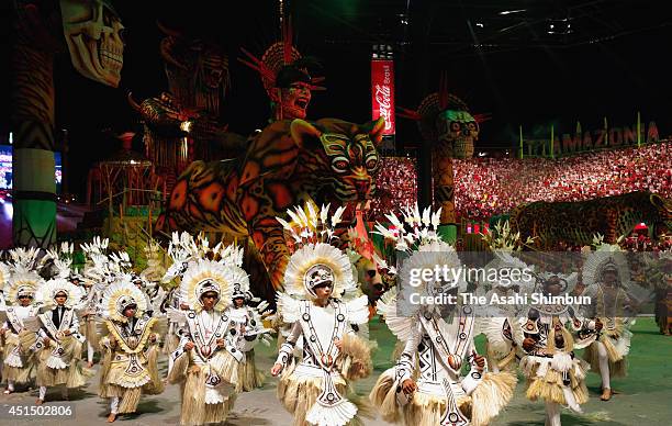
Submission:
[[[369,200],[376,191],[373,175],[380,165],[377,147],[383,130],[383,119],[366,124],[294,120],[292,138],[304,150],[304,160],[298,166],[314,176],[314,188],[328,201]]]

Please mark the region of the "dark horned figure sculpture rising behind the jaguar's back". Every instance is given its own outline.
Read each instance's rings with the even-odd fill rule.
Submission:
[[[144,123],[147,158],[179,175],[197,159],[235,157],[245,138],[220,123],[221,99],[229,87],[228,57],[212,42],[157,25],[165,34],[159,52],[168,91],[141,103],[128,93]]]

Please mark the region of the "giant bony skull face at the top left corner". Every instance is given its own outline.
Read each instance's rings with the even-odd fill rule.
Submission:
[[[124,26],[109,0],[60,0],[60,14],[75,69],[87,78],[117,87]]]

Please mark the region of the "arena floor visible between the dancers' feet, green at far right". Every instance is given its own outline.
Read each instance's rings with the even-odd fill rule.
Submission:
[[[630,352],[629,377],[613,381],[614,390],[619,393],[609,402],[600,401],[600,378],[589,375],[591,400],[583,405],[584,414],[576,415],[565,410],[562,413],[562,425],[608,425],[608,426],[645,426],[669,425],[672,418],[672,338],[658,333],[652,318],[639,318],[634,326],[635,336]],[[384,324],[377,320],[371,324],[371,335],[379,341],[374,355],[376,373],[357,384],[358,391],[368,393],[378,374],[392,366],[390,354],[394,346],[392,335]],[[482,341],[479,341],[482,344]],[[270,369],[275,354],[271,349],[257,349],[260,368]],[[165,371],[166,365],[161,362]],[[96,366],[98,371],[99,367]],[[82,391],[72,392],[70,402],[75,405],[74,419],[57,418],[19,418],[10,417],[4,407],[0,416],[0,425],[35,424],[35,425],[91,425],[103,424],[108,414],[108,405],[98,397],[97,374]],[[276,380],[268,380],[264,389],[238,396],[227,425],[290,425],[292,417],[278,403],[275,395]],[[121,416],[116,424],[126,426],[176,425],[179,423],[179,386],[169,385],[166,392],[158,396],[144,397],[139,405],[141,414]],[[32,405],[36,400],[36,390],[12,395],[0,394],[1,405]],[[53,390],[47,393],[47,402],[58,397],[60,392]],[[367,425],[387,425],[379,418],[365,419]],[[492,426],[526,426],[544,425],[544,404],[531,403],[524,396],[524,386],[518,385],[516,395],[506,411],[492,423]]]

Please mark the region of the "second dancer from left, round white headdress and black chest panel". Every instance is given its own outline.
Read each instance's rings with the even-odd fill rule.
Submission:
[[[85,385],[86,375],[92,373],[80,366],[85,337],[79,334],[75,307],[82,298],[82,289],[65,278],[51,279],[37,289],[36,299],[44,304],[44,313],[37,315],[41,327],[35,344],[37,404],[44,403],[47,386],[65,385],[63,396],[67,399],[67,390]]]

